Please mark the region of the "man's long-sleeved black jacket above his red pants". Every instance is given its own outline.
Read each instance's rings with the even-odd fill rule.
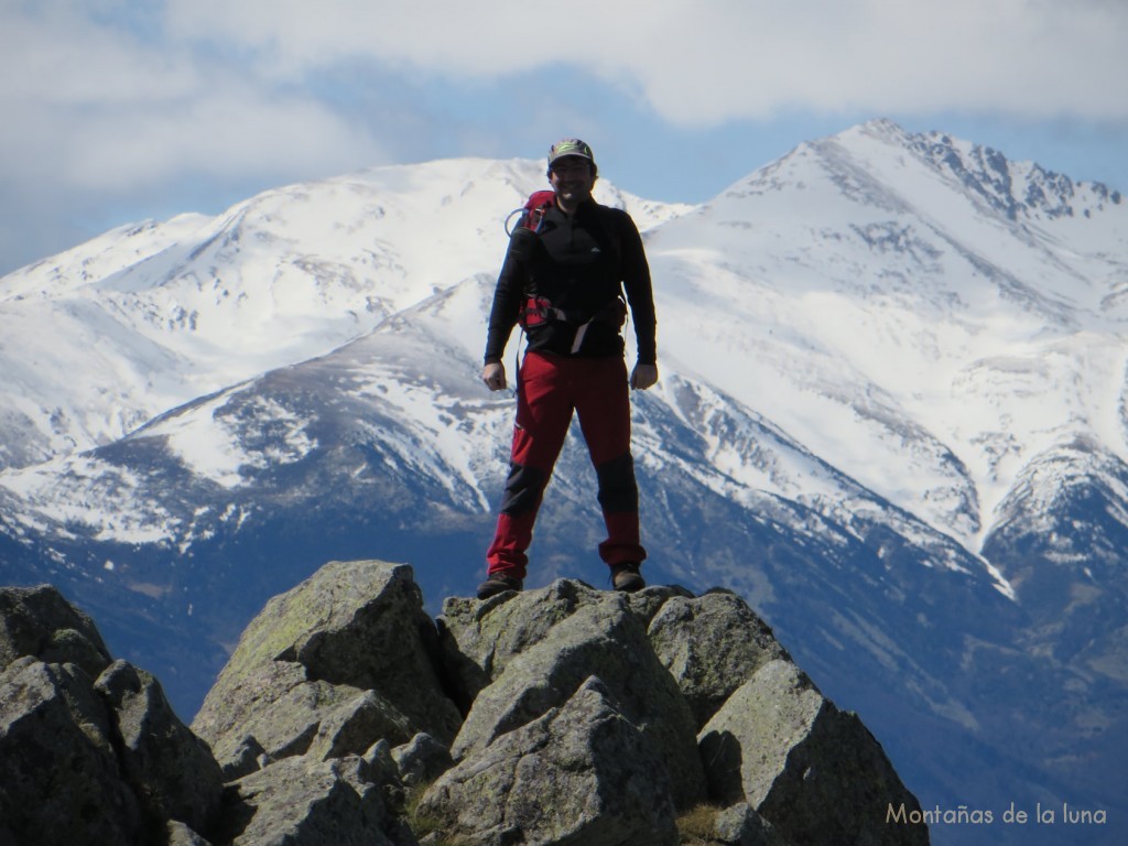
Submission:
[[[654,364],[654,294],[642,238],[631,215],[593,200],[581,204],[572,218],[556,205],[549,206],[539,232],[519,227],[510,239],[490,312],[486,363],[501,361],[530,298],[547,299],[566,319],[557,316],[528,326],[529,350],[583,358],[622,355],[617,320],[598,317],[574,352],[573,344],[579,326],[606,316],[624,291],[638,362]]]

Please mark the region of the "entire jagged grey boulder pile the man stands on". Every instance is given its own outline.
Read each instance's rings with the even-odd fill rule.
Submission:
[[[734,593],[575,580],[424,611],[333,562],[191,726],[56,589],[0,589],[0,846],[883,846],[917,800]]]

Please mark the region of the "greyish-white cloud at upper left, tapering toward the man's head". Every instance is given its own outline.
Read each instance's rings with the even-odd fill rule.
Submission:
[[[332,173],[379,156],[376,143],[300,92],[268,90],[185,45],[47,14],[6,16],[0,157],[37,178],[125,193],[173,174]],[[10,24],[11,26],[7,26]],[[329,168],[326,170],[326,168]]]

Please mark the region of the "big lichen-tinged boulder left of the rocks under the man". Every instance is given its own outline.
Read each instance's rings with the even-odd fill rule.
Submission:
[[[327,564],[250,622],[192,728],[229,774],[247,748],[328,759],[417,732],[449,743],[461,719],[434,642],[411,567]]]

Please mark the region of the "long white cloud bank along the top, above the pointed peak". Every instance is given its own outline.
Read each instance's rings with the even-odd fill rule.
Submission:
[[[279,77],[349,56],[479,79],[574,63],[675,122],[785,109],[1128,118],[1120,0],[173,0],[170,20]]]

